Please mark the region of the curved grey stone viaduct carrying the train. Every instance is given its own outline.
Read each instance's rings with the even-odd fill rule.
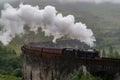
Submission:
[[[67,80],[68,75],[82,65],[91,73],[120,72],[119,59],[67,57],[41,53],[25,46],[22,47],[22,58],[23,80]]]

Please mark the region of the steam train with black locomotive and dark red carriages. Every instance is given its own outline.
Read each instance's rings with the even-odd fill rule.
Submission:
[[[72,49],[72,48],[45,48],[45,47],[38,47],[34,45],[24,45],[22,49],[27,49],[39,53],[46,53],[46,54],[55,54],[55,55],[62,55],[62,56],[76,56],[81,58],[99,58],[99,51],[92,49]]]

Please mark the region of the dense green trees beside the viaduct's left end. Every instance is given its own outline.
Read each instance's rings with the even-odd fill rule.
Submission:
[[[0,46],[0,80],[20,80],[21,60],[14,50]]]

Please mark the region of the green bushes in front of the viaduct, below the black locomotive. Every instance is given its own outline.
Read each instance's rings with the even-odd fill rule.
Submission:
[[[89,72],[83,71],[83,68],[80,67],[69,75],[68,80],[114,80],[114,75],[103,73],[99,75],[94,74],[93,76]]]

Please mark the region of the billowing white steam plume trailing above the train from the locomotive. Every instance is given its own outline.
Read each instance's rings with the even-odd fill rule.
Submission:
[[[38,28],[44,31],[45,36],[53,36],[53,42],[63,36],[77,39],[93,46],[95,37],[91,29],[81,22],[76,22],[73,15],[63,16],[53,6],[39,9],[38,6],[20,4],[13,8],[5,4],[1,11],[0,24],[4,27],[0,31],[0,41],[7,45],[16,35],[25,33],[24,25],[28,24],[31,31],[37,33]]]

